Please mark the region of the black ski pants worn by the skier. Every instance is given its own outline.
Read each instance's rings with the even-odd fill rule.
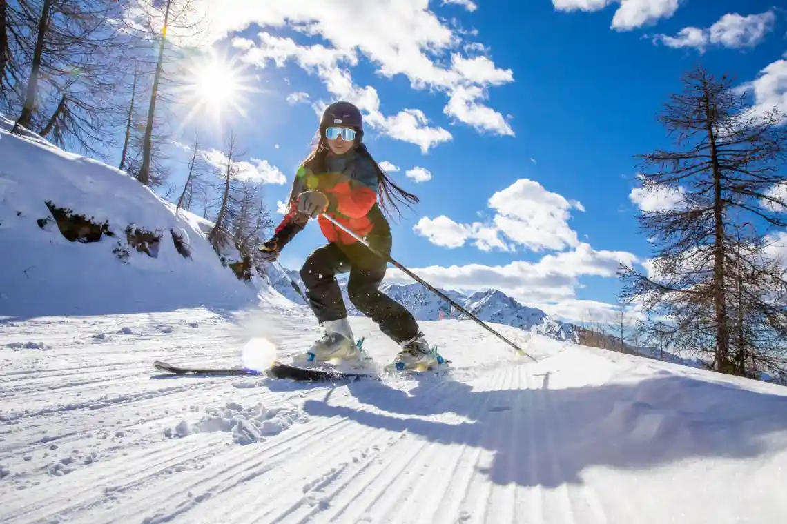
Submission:
[[[390,251],[390,243],[390,238],[383,238],[372,245],[382,244],[375,245],[375,249],[386,253]],[[379,290],[386,268],[386,259],[375,255],[360,242],[331,242],[312,251],[301,268],[301,279],[317,320],[320,323],[338,321],[347,316],[336,276],[349,273],[347,295],[350,302],[378,324],[380,331],[396,343],[418,335],[418,323],[412,314]]]

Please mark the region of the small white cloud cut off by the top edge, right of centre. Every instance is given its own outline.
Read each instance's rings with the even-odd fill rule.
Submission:
[[[552,0],[558,11],[600,11],[608,5],[619,3],[620,7],[612,18],[613,29],[630,31],[637,27],[653,24],[662,18],[670,18],[678,10],[678,0]]]

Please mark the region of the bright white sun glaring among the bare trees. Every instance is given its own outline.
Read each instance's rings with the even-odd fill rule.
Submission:
[[[255,79],[244,72],[237,59],[215,52],[188,60],[183,82],[176,88],[179,102],[189,108],[183,124],[200,116],[211,116],[219,124],[232,111],[246,118],[246,94],[259,89],[254,86]]]

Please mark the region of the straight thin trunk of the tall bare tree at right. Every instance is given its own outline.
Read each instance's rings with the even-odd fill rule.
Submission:
[[[716,150],[716,137],[713,130],[715,108],[711,107],[706,84],[704,97],[705,122],[708,130],[708,143],[711,148],[711,167],[714,187],[714,248],[713,248],[713,301],[716,324],[716,366],[722,373],[730,372],[730,325],[727,316],[726,288],[724,283],[724,200],[722,200],[722,170],[719,166],[719,153]]]

